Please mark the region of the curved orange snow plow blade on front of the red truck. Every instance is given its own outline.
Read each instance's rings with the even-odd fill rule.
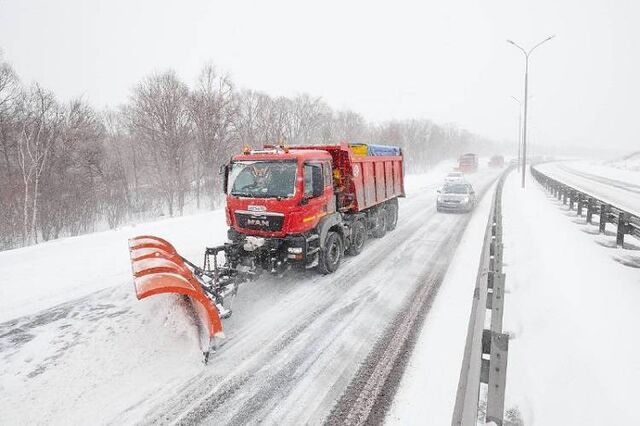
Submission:
[[[144,235],[129,240],[129,253],[139,300],[162,293],[188,296],[207,327],[210,345],[214,338],[224,336],[216,305],[173,245],[162,238]],[[205,350],[205,361],[209,349]]]

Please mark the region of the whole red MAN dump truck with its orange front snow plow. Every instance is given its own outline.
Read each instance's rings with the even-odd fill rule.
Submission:
[[[345,253],[396,227],[405,195],[402,152],[383,145],[268,145],[245,149],[221,173],[229,241],[206,248],[202,266],[162,238],[129,241],[136,296],[189,297],[206,325],[205,362],[238,284],[262,271],[335,272]]]

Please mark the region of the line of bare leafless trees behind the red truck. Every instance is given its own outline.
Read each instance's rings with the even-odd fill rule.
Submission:
[[[210,65],[192,86],[152,74],[126,104],[97,111],[23,84],[0,57],[0,250],[215,208],[220,165],[244,145],[283,140],[398,145],[409,172],[489,143],[428,120],[368,123],[306,94],[238,90]]]

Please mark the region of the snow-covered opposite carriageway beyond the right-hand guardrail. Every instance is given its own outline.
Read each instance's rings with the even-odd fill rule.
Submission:
[[[587,161],[545,163],[536,168],[602,201],[640,215],[640,171]]]

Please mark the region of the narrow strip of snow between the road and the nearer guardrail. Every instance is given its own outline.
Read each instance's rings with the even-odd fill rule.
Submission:
[[[386,424],[448,425],[456,400],[476,274],[494,187],[476,207],[425,318]]]

